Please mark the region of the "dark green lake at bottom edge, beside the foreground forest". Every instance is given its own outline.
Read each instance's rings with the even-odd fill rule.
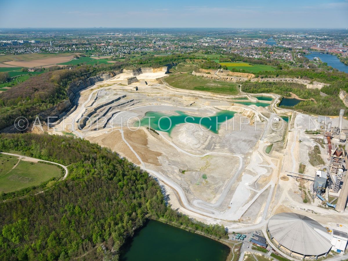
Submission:
[[[120,261],[226,261],[229,252],[215,240],[150,220],[126,242]]]

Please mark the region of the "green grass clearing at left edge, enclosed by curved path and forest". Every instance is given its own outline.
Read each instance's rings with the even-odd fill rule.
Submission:
[[[0,154],[0,191],[5,193],[40,185],[53,177],[60,177],[61,169],[55,165],[19,161],[14,156]]]

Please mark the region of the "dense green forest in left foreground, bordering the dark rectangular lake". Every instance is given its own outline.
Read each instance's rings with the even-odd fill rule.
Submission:
[[[227,237],[223,226],[171,209],[147,172],[97,144],[48,134],[1,134],[0,150],[69,165],[68,178],[45,192],[0,203],[1,260],[118,260],[125,239],[147,218]]]

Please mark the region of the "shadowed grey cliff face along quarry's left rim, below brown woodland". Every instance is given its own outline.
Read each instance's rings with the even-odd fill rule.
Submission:
[[[52,108],[40,112],[39,117],[42,118],[44,121],[47,121],[47,117],[57,117],[50,119],[50,122],[54,122],[62,118],[64,115],[67,116],[65,112],[71,109],[73,106],[76,106],[76,101],[78,97],[76,94],[80,90],[90,87],[96,84],[97,82],[108,80],[118,73],[119,72],[110,72],[106,74],[99,74],[97,76],[82,80],[73,81],[66,91],[66,94],[68,95],[68,100],[62,101],[57,105],[53,106]]]

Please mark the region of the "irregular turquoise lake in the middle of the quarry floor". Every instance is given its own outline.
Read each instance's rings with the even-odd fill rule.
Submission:
[[[218,111],[213,116],[191,116],[182,111],[175,111],[177,115],[168,115],[162,112],[157,111],[148,111],[145,113],[144,118],[140,120],[140,126],[150,127],[155,130],[161,130],[171,134],[175,126],[179,126],[182,123],[193,123],[200,124],[202,127],[205,127],[212,131],[213,133],[218,133],[221,124],[216,124],[216,122],[224,123],[226,120],[233,118],[235,111]],[[149,118],[151,117],[151,118]],[[209,117],[209,118],[208,118]],[[139,126],[139,122],[135,122],[135,126]],[[192,129],[192,126],[188,127]]]

